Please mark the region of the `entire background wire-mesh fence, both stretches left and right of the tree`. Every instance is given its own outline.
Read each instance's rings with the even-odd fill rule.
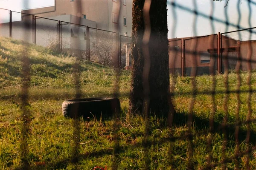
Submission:
[[[175,4],[172,5],[176,7]],[[131,57],[129,57],[129,53],[131,52],[131,37],[117,35],[115,32],[90,28],[75,23],[67,23],[2,8],[0,10],[3,13],[2,18],[6,21],[9,20],[9,22],[1,24],[1,35],[3,37],[13,37],[17,40],[23,40],[22,34],[20,33],[24,30],[26,35],[28,35],[24,39],[26,42],[42,45],[52,50],[68,52],[71,55],[79,55],[81,58],[89,59],[103,65],[113,65],[111,56],[115,50],[119,50],[120,67],[126,69],[131,68]],[[13,20],[13,18],[17,20],[19,17],[21,20]],[[29,23],[29,28],[26,30],[25,21]],[[220,35],[212,34],[203,37],[169,40],[170,72],[173,72],[172,63],[175,61],[175,73],[182,76],[191,75],[192,61],[194,61],[192,57],[194,54],[191,50],[193,40],[198,41],[198,49],[195,51],[198,58],[196,63],[197,75],[209,74],[210,65],[214,65],[213,69],[215,73],[224,73],[226,69],[235,69],[238,53],[242,55],[241,60],[243,60],[241,70],[246,71],[247,58],[244,57],[247,52],[246,43],[256,40],[255,29],[247,28],[221,33]],[[241,32],[241,40],[239,40],[239,32]],[[73,42],[75,39],[79,39],[79,47],[74,47]],[[208,43],[211,39],[213,43],[212,47]],[[241,42],[240,48],[237,45],[239,42]],[[228,68],[224,66],[225,55],[227,55]],[[252,55],[254,56],[254,53]],[[208,58],[210,58],[210,61],[207,62]],[[252,58],[252,62],[253,60],[255,59]],[[255,68],[256,66],[253,65],[252,69]]]

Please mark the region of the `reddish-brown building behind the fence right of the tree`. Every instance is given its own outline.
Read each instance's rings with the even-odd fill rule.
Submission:
[[[170,73],[191,75],[196,68],[196,75],[210,74],[211,69],[218,71],[218,49],[220,50],[221,72],[236,69],[241,59],[240,70],[248,71],[248,64],[256,69],[255,62],[247,62],[249,46],[252,45],[251,59],[256,59],[256,41],[239,41],[228,36],[221,36],[218,47],[218,35],[212,34],[200,37],[184,37],[169,39],[169,70]],[[227,57],[227,67],[225,65]]]

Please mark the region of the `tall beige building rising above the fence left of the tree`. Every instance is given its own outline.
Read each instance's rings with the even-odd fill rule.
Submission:
[[[39,17],[52,17],[58,15],[75,15],[83,17],[86,15],[87,20],[95,21],[96,28],[108,31],[116,31],[116,23],[113,23],[113,13],[118,13],[117,8],[121,3],[121,11],[119,17],[119,32],[122,35],[131,36],[132,28],[132,0],[126,0],[126,5],[123,5],[123,0],[81,0],[81,13],[78,13],[76,6],[79,1],[74,0],[55,0],[55,7],[37,8],[24,10],[23,13],[35,14]],[[123,18],[126,17],[127,26],[123,24]],[[76,21],[73,21],[76,22]]]

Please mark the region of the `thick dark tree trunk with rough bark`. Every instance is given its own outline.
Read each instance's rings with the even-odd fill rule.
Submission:
[[[143,6],[145,0],[133,0],[132,8],[132,82],[130,93],[130,111],[143,111],[143,34],[145,23]],[[150,7],[151,35],[148,43],[150,54],[149,72],[149,111],[151,113],[174,111],[169,96],[169,54],[167,38],[167,0],[152,0]]]

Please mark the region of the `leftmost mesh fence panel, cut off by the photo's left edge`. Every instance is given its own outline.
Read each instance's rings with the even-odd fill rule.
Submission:
[[[0,36],[9,37],[9,10],[0,8]]]

